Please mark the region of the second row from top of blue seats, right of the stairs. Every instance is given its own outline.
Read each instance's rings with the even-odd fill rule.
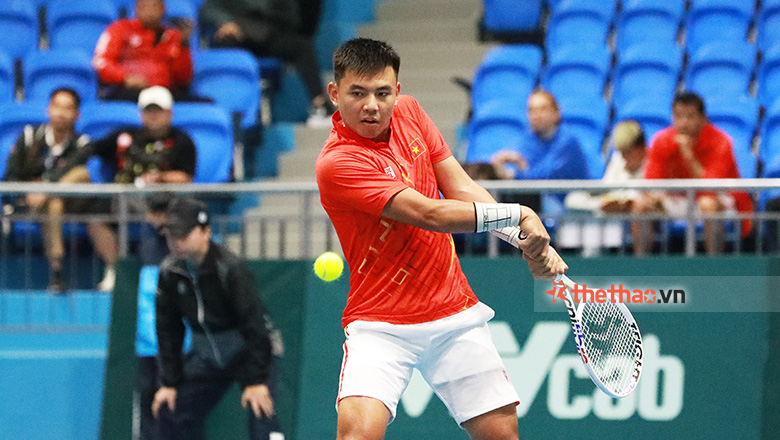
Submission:
[[[617,63],[604,46],[550,49],[547,65],[535,46],[506,46],[486,54],[474,75],[475,107],[493,99],[524,99],[538,82],[556,96],[608,96],[622,107],[639,96],[668,96],[678,83],[705,100],[751,93],[768,105],[780,97],[780,46],[757,64],[755,46],[746,41],[715,41],[693,53],[684,67],[683,51],[673,43],[648,43],[621,52]]]

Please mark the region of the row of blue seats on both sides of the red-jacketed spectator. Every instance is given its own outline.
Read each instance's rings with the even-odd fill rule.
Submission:
[[[27,100],[48,99],[52,90],[70,87],[85,102],[97,99],[97,75],[88,54],[78,50],[34,51],[23,60]],[[192,91],[211,97],[230,113],[239,113],[243,126],[257,122],[260,74],[254,56],[240,49],[211,49],[193,55]],[[14,99],[14,67],[0,52],[0,102]]]

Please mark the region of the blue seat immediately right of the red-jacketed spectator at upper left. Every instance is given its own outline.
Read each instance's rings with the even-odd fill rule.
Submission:
[[[260,106],[260,68],[252,54],[241,49],[211,49],[193,55],[194,91],[214,98],[229,112],[241,114],[241,124],[257,123]]]

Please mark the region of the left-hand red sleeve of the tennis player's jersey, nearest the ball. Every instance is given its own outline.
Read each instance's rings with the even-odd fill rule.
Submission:
[[[408,188],[369,157],[346,148],[339,150],[323,154],[317,163],[317,185],[324,206],[381,216],[387,202]]]

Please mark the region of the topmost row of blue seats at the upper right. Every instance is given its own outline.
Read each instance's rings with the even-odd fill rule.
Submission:
[[[542,0],[485,0],[484,24],[494,33],[528,31],[539,26]],[[617,29],[616,44],[624,49],[647,41],[675,41],[686,29],[686,44],[697,50],[713,39],[744,39],[755,25],[758,46],[765,51],[780,42],[780,1],[694,0],[563,0],[551,1],[548,47],[572,41],[606,44]],[[652,31],[648,31],[652,29]]]

